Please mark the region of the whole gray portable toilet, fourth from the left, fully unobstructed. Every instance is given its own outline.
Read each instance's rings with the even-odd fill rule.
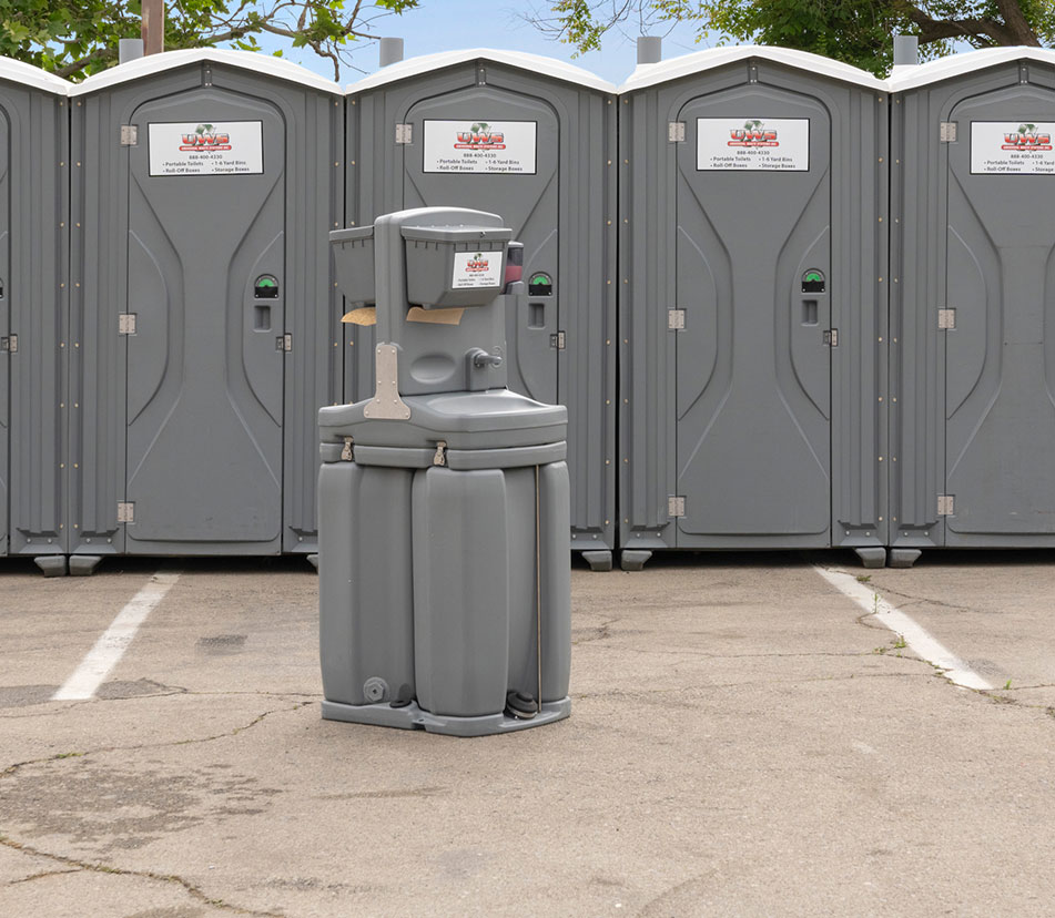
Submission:
[[[620,545],[885,560],[885,83],[780,48],[620,90]]]

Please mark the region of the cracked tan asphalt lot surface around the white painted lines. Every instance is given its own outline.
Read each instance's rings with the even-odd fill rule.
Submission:
[[[50,701],[159,569],[97,696]],[[303,560],[3,562],[0,915],[1055,912],[1049,557],[680,555],[572,591],[571,717],[456,740],[319,718]]]

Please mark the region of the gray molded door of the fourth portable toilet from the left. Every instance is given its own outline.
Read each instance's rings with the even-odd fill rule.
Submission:
[[[697,169],[698,119],[752,112],[808,121],[808,171]],[[815,99],[750,85],[694,99],[679,120],[678,545],[829,545],[831,308],[801,284],[810,267],[830,273],[828,114]]]

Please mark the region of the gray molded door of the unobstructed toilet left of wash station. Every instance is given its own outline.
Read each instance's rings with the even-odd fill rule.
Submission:
[[[261,175],[152,176],[130,149],[128,551],[257,543],[281,551],[285,143],[274,105],[215,88],[141,105],[140,124],[258,121]],[[145,132],[144,132],[145,133]],[[202,215],[207,214],[203,223]]]

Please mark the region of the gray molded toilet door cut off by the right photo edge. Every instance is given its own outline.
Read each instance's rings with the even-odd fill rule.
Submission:
[[[949,150],[945,334],[947,545],[1055,537],[1055,175],[972,175],[970,123],[1055,122],[1055,91],[961,102]]]

